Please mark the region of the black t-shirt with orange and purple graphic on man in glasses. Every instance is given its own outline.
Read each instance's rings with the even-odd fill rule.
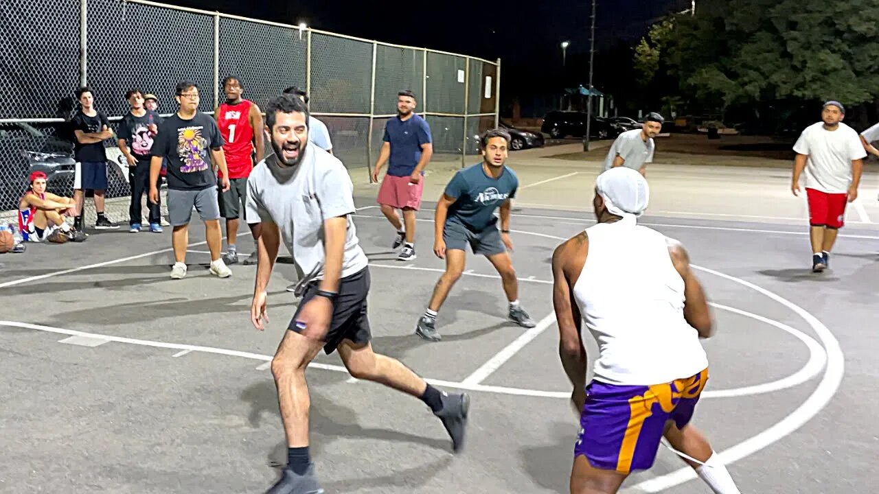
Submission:
[[[168,161],[168,188],[198,191],[217,184],[211,163],[211,149],[222,149],[223,140],[216,121],[205,113],[183,120],[177,113],[159,127],[152,156]]]

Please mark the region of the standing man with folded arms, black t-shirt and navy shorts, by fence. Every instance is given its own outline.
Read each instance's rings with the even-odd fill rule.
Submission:
[[[83,231],[83,208],[85,191],[95,194],[95,209],[98,213],[96,229],[118,229],[104,214],[104,193],[107,188],[107,155],[104,141],[113,138],[110,120],[104,113],[95,110],[94,92],[84,87],[76,91],[81,109],[73,117],[73,154],[76,157],[76,177],[74,178],[73,199],[79,214],[74,220],[74,228]]]

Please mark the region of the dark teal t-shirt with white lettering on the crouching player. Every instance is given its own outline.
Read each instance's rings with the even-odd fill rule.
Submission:
[[[487,175],[483,163],[459,170],[446,185],[446,195],[456,199],[448,208],[447,221],[476,231],[494,226],[498,222],[495,209],[516,197],[518,188],[516,172],[506,165],[498,178]]]

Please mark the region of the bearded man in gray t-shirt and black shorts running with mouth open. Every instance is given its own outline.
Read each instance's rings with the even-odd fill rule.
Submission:
[[[262,331],[266,290],[280,240],[294,258],[301,295],[278,351],[272,374],[287,434],[287,469],[270,492],[323,492],[309,455],[309,389],[305,368],[323,346],[338,350],[353,377],[375,381],[420,398],[463,447],[469,396],[427,384],[398,360],[373,352],[367,295],[368,261],[352,221],[353,185],[338,158],[309,144],[309,110],[293,94],[265,109],[274,153],[247,179],[247,220],[258,222],[257,280],[251,322]]]

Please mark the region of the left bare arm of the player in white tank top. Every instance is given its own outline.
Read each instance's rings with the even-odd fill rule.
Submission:
[[[574,385],[575,394],[585,389],[586,349],[580,334],[582,318],[576,303],[573,303],[570,280],[570,254],[572,246],[582,246],[588,242],[585,234],[580,234],[559,245],[552,256],[553,309],[556,310],[556,323],[559,331],[558,353],[562,360],[564,373]],[[582,405],[582,403],[578,403]]]

